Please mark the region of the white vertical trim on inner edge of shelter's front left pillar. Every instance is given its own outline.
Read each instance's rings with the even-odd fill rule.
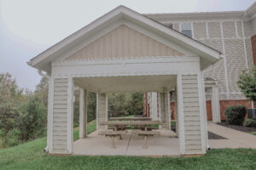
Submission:
[[[73,77],[67,83],[67,153],[73,153]]]

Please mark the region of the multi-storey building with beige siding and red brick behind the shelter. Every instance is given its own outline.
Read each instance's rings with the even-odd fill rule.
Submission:
[[[256,3],[244,11],[145,15],[223,54],[223,59],[204,71],[208,120],[224,120],[224,110],[230,105],[253,107],[236,82],[241,71],[256,64]],[[144,96],[150,106],[144,108],[144,115],[150,111],[151,116],[158,115],[154,112],[158,104],[153,102],[157,95],[147,93]],[[175,118],[173,99],[170,105],[172,118]]]

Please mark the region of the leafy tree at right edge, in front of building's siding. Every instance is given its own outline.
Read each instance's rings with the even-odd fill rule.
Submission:
[[[237,84],[241,89],[241,93],[244,94],[247,99],[256,102],[256,66],[250,70],[242,71]]]

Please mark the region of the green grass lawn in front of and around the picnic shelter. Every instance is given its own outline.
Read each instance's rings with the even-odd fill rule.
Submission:
[[[88,132],[96,128],[95,122],[88,126]],[[48,156],[45,144],[42,138],[0,150],[0,169],[256,169],[256,150],[248,149],[211,150],[207,156],[189,158]]]

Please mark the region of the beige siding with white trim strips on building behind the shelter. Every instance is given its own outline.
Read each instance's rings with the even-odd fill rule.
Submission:
[[[153,17],[154,18],[154,17]],[[172,20],[160,19],[163,23]],[[253,67],[253,50],[251,37],[253,36],[250,20],[173,20],[174,29],[177,23],[191,22],[194,39],[217,49],[224,54],[224,59],[218,60],[205,71],[205,77],[212,77],[218,81],[219,99],[245,99],[237,87],[241,71]]]

